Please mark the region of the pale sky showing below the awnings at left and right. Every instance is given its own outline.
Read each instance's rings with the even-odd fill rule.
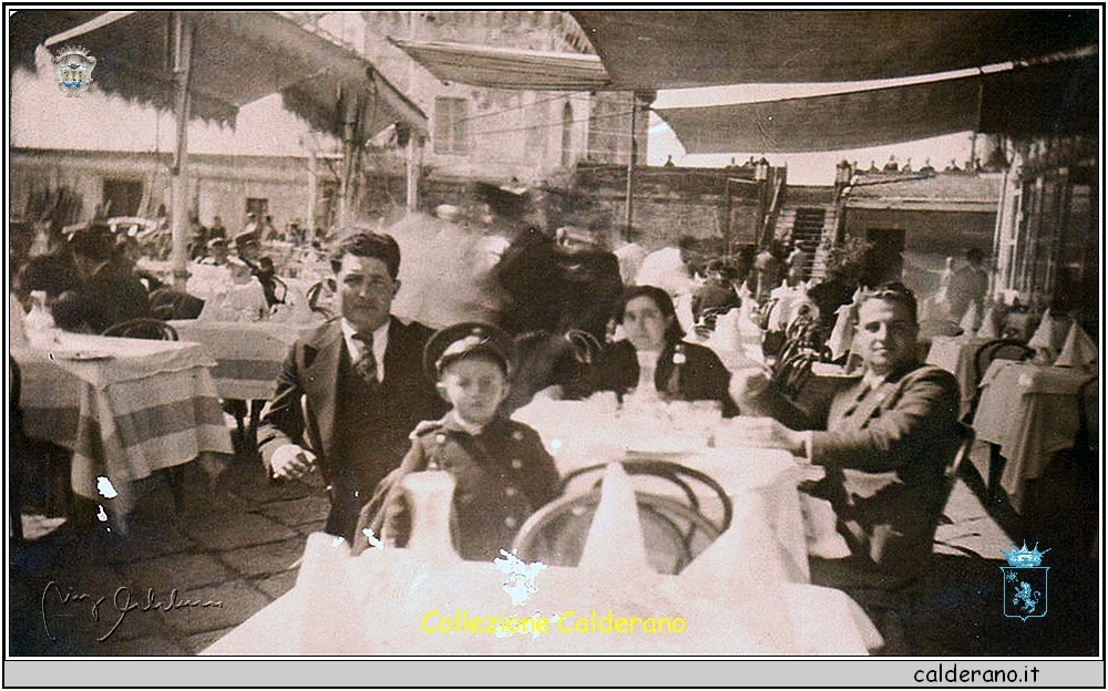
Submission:
[[[11,81],[11,141],[13,146],[41,148],[92,148],[137,152],[172,152],[174,122],[168,113],[126,103],[122,99],[88,92],[68,99],[59,91],[49,63],[49,52],[37,55],[38,75],[17,71]],[[95,78],[95,73],[93,73]],[[862,84],[756,84],[659,91],[656,107],[741,103],[782,97],[833,93],[848,87],[874,87],[903,83],[885,80]],[[74,123],[81,123],[74,136]],[[788,179],[797,185],[831,185],[835,164],[847,159],[866,168],[870,162],[881,167],[895,156],[903,164],[911,159],[919,169],[930,158],[942,169],[951,159],[962,166],[970,158],[972,133],[964,132],[917,142],[841,152],[774,154],[772,152],[733,152],[731,154],[688,155],[677,136],[656,114],[650,114],[649,165],[660,166],[667,157],[678,166],[721,167],[731,159],[738,163],[765,155],[773,166],[788,167]],[[308,147],[334,151],[332,138],[312,133],[307,123],[285,111],[280,96],[273,95],[245,105],[237,126],[193,122],[188,130],[191,153],[306,155]]]

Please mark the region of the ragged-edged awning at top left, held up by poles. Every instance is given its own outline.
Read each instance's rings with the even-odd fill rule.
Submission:
[[[174,110],[173,13],[107,12],[60,30],[51,12],[19,12],[12,24],[61,31],[47,48],[79,44],[96,58],[96,87]],[[193,116],[234,123],[242,105],[280,93],[286,107],[314,127],[342,135],[338,104],[357,95],[362,134],[403,123],[425,136],[427,115],[373,65],[275,12],[188,12],[195,27],[189,93]],[[42,17],[45,16],[45,17]],[[45,41],[49,34],[41,35]]]

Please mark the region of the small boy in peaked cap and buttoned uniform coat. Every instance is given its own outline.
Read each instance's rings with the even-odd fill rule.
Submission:
[[[407,544],[411,516],[402,481],[409,473],[453,475],[451,532],[469,560],[492,560],[509,549],[527,516],[556,496],[557,470],[538,433],[502,414],[514,346],[504,331],[480,322],[448,327],[428,341],[423,367],[452,408],[412,432],[403,463],[361,512],[356,551],[368,545],[366,527],[391,545]]]

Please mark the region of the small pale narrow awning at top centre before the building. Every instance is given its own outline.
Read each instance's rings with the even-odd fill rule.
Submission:
[[[535,91],[591,91],[604,89],[611,82],[596,55],[393,37],[389,41],[447,82]]]

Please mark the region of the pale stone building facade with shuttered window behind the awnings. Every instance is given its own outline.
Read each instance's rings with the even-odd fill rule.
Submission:
[[[520,50],[592,53],[584,32],[558,11],[300,12],[295,18],[359,51],[431,121],[427,175],[537,184],[578,162],[626,165],[632,103],[626,92],[515,91],[444,83],[389,37]],[[636,159],[647,156],[645,111],[635,123]],[[402,152],[397,151],[396,155]]]

